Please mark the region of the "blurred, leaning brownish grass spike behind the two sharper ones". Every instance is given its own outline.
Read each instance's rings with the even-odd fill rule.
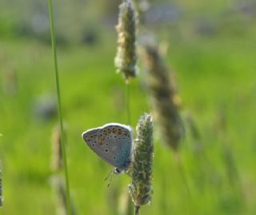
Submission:
[[[174,76],[171,76],[173,73],[168,70],[158,47],[152,42],[144,45],[144,62],[154,119],[158,122],[163,140],[177,151],[184,134],[184,127],[178,109],[177,86]]]

